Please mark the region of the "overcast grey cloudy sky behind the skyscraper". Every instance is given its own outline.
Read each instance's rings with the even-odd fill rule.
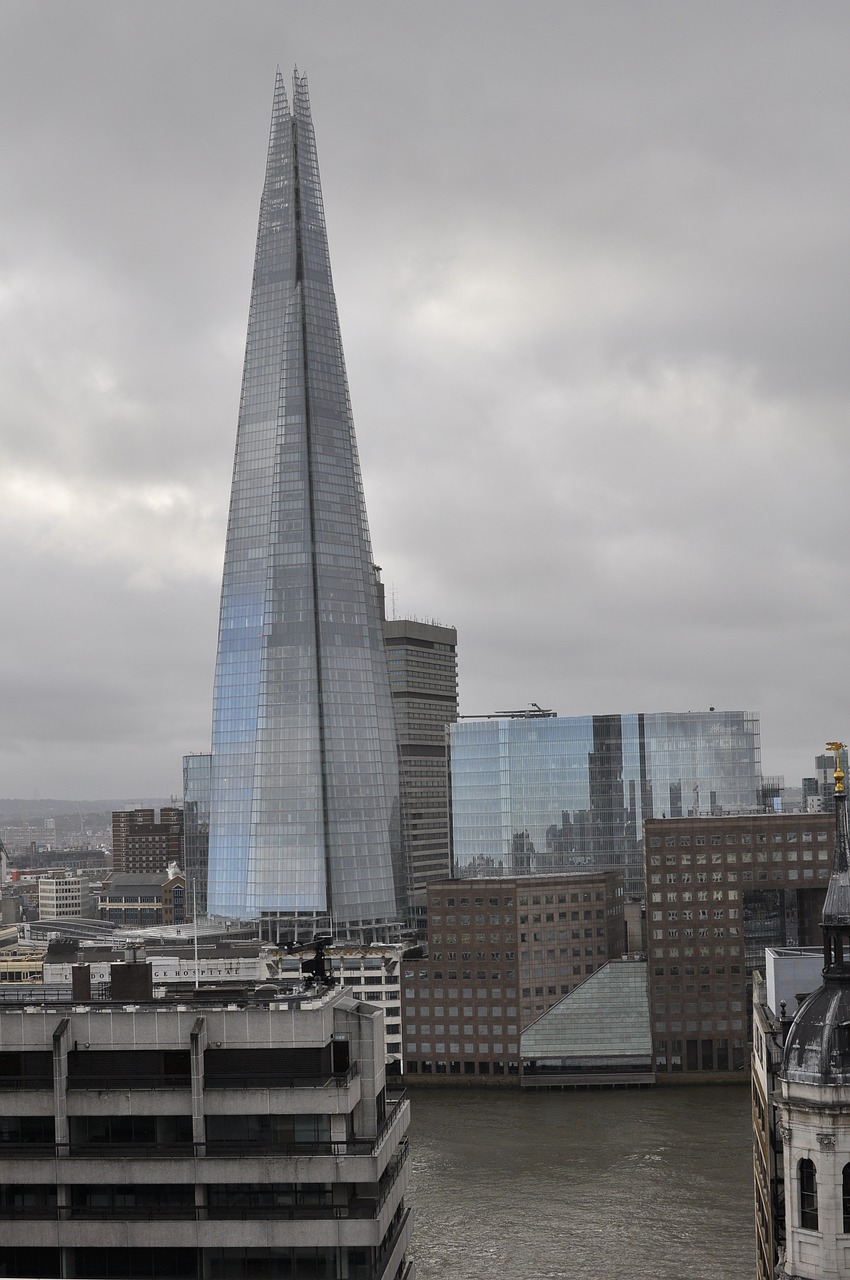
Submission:
[[[0,0],[0,795],[209,748],[275,65],[461,710],[850,739],[850,8]]]

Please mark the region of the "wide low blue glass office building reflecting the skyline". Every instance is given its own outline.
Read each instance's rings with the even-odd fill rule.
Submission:
[[[522,716],[449,731],[453,874],[622,867],[643,896],[645,818],[755,813],[749,712]]]

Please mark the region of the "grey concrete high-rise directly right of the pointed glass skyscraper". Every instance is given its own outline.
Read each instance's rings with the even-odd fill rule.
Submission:
[[[384,622],[401,782],[401,841],[413,899],[451,874],[445,726],[457,721],[457,631]]]

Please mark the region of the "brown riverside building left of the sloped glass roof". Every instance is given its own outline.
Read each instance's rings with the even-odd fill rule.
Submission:
[[[520,1074],[520,1033],[620,956],[622,872],[440,881],[402,964],[407,1075]]]

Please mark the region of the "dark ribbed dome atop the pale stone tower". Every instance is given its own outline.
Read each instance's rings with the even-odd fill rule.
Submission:
[[[850,1084],[850,987],[827,980],[798,1011],[782,1075],[799,1084]]]

